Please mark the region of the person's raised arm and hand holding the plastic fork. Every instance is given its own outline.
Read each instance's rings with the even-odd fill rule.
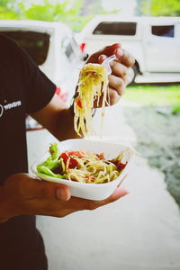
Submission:
[[[110,103],[117,103],[128,84],[128,68],[134,64],[134,58],[126,50],[121,49],[120,44],[113,44],[94,53],[87,59],[88,63],[102,63],[103,59],[115,54],[118,60],[111,63],[112,75],[109,76]],[[94,103],[94,107],[96,104]],[[77,138],[74,130],[74,117],[69,108],[65,106],[55,94],[47,106],[31,116],[47,128],[59,140]]]

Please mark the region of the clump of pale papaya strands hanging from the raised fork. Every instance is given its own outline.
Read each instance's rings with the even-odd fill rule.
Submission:
[[[105,104],[108,104],[107,85],[108,75],[105,67],[89,63],[82,68],[74,101],[74,127],[79,136],[82,134],[85,136],[86,132],[94,133],[92,109],[94,108],[94,100],[97,99],[98,106],[102,96],[102,117],[104,116]]]

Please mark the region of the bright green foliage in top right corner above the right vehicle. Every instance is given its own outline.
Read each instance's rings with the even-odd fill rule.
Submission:
[[[141,11],[151,16],[180,16],[179,0],[142,0]]]

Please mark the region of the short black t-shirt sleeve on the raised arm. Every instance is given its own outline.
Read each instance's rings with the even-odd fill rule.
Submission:
[[[50,102],[55,94],[56,85],[40,70],[24,49],[19,45],[17,49],[23,67],[26,112],[37,112]]]

